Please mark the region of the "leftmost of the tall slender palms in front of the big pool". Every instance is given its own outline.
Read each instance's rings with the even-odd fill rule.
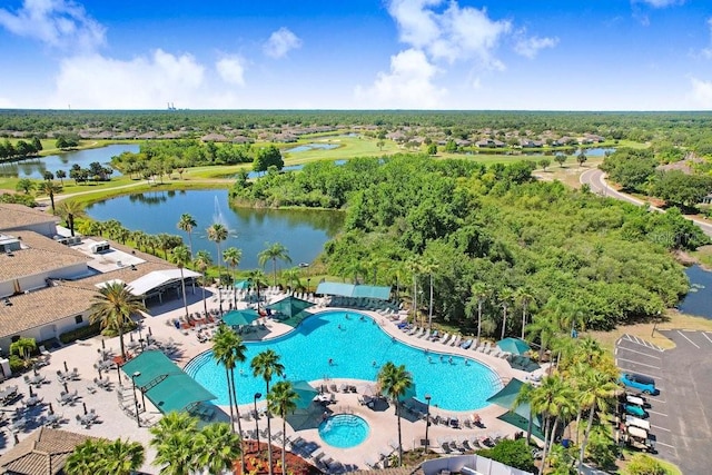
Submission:
[[[233,328],[227,325],[220,325],[218,327],[218,330],[212,336],[212,357],[218,364],[225,366],[227,393],[230,406],[230,427],[235,431],[235,418],[237,418],[237,431],[240,436],[243,434],[243,423],[240,418],[240,409],[237,404],[235,366],[237,366],[238,363],[245,362],[246,352],[247,347]],[[233,414],[233,406],[235,406],[236,417]],[[241,452],[244,451],[240,451],[240,468],[243,469],[241,473],[245,473],[245,456]]]

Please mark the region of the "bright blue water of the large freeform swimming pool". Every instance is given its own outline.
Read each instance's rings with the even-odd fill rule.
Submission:
[[[432,405],[449,410],[484,407],[486,399],[502,388],[500,378],[487,366],[462,356],[452,356],[451,363],[445,353],[426,354],[392,338],[375,320],[354,311],[316,314],[287,335],[246,343],[246,347],[245,363],[235,369],[239,404],[251,403],[255,393],[265,393],[265,382],[253,377],[249,367],[255,355],[265,349],[280,356],[286,378],[293,382],[324,377],[375,382],[384,363],[403,364],[413,375],[415,397],[425,400],[425,394],[429,394]],[[443,352],[447,348],[444,346]],[[228,404],[225,368],[211,352],[192,359],[185,370],[217,396],[216,404]]]

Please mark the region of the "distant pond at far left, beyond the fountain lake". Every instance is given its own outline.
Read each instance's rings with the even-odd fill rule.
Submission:
[[[115,144],[101,148],[91,148],[87,150],[68,151],[60,155],[48,155],[47,157],[31,158],[12,164],[0,165],[0,176],[17,178],[43,178],[44,171],[49,170],[56,174],[57,170],[65,170],[69,177],[71,166],[77,164],[81,168],[89,168],[89,164],[98,161],[108,166],[111,157],[121,155],[125,151],[138,154],[139,146],[130,144]],[[119,170],[113,170],[112,177],[120,176]]]

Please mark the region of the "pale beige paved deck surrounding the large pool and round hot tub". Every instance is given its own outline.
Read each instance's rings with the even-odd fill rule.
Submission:
[[[215,293],[214,293],[215,295]],[[190,313],[201,311],[204,309],[202,300],[198,299],[199,295],[196,295],[192,298],[192,303],[189,305],[188,310]],[[277,300],[281,298],[280,296],[271,296],[271,300]],[[208,309],[216,308],[218,303],[217,298],[209,297]],[[238,308],[245,307],[246,304],[238,303]],[[316,307],[314,307],[316,309]],[[336,307],[326,307],[318,308],[322,310],[339,310],[340,308]],[[433,352],[459,355],[464,357],[469,357],[474,360],[477,360],[482,364],[485,364],[490,368],[492,368],[495,373],[500,375],[503,383],[506,384],[511,378],[520,378],[525,380],[525,376],[527,373],[513,369],[510,367],[510,364],[505,359],[496,358],[491,355],[485,355],[483,353],[473,350],[473,349],[462,349],[459,347],[452,347],[448,345],[442,345],[437,342],[429,342],[421,338],[416,338],[414,336],[408,336],[402,330],[399,330],[396,326],[397,321],[392,321],[388,318],[383,317],[382,315],[360,310],[353,308],[344,308],[347,311],[359,311],[365,315],[374,318],[379,326],[387,334],[393,337],[399,339],[403,343],[417,346],[419,348],[427,348]],[[208,350],[210,348],[209,343],[200,343],[197,338],[197,331],[189,330],[184,334],[184,331],[178,330],[175,326],[171,325],[171,320],[185,314],[182,305],[180,301],[172,300],[167,301],[160,307],[151,307],[151,316],[148,316],[144,319],[144,337],[149,331],[154,338],[160,342],[168,342],[172,339],[179,348],[178,357],[174,358],[174,360],[180,366],[184,367],[190,359],[198,356],[199,354]],[[246,340],[251,339],[270,339],[276,338],[286,333],[293,330],[293,327],[280,324],[274,320],[266,321],[266,330],[261,333],[254,333],[247,336]],[[138,338],[138,334],[135,333],[135,338]],[[103,342],[102,342],[103,340]],[[125,342],[130,342],[130,336],[125,336]],[[56,349],[51,352],[51,357],[49,359],[49,365],[39,369],[39,373],[47,377],[46,384],[43,384],[39,388],[33,388],[34,393],[43,399],[44,405],[48,403],[52,403],[55,413],[62,414],[63,418],[67,419],[67,423],[62,424],[59,428],[63,428],[67,431],[87,434],[97,437],[107,437],[107,438],[129,438],[132,441],[137,441],[144,444],[146,447],[147,463],[141,468],[142,472],[146,473],[158,473],[159,467],[150,465],[150,462],[155,457],[155,451],[148,446],[148,442],[150,441],[150,434],[148,428],[138,427],[135,418],[127,416],[123,414],[119,407],[119,402],[117,399],[116,389],[118,389],[118,384],[121,384],[125,387],[125,390],[130,394],[131,380],[127,378],[122,373],[120,377],[118,376],[117,370],[111,370],[108,374],[105,374],[103,377],[108,377],[113,384],[112,388],[115,390],[103,390],[98,388],[96,393],[90,393],[87,388],[88,386],[93,386],[93,378],[98,377],[97,370],[93,368],[93,364],[99,359],[99,352],[106,346],[107,349],[112,350],[113,354],[119,353],[119,342],[118,337],[116,338],[101,338],[95,337],[85,342],[79,342],[72,345],[67,345],[62,348]],[[69,369],[77,368],[80,375],[78,380],[72,380],[68,383],[69,390],[73,392],[78,390],[80,399],[75,403],[75,405],[66,405],[60,406],[57,402],[57,398],[60,395],[60,392],[63,390],[62,384],[60,384],[57,379],[56,373],[58,370],[65,370],[65,363]],[[30,373],[30,376],[32,374]],[[315,387],[318,387],[319,384],[324,384],[324,380],[312,382]],[[373,385],[374,382],[366,380],[347,380],[347,379],[330,379],[326,382],[329,386],[336,385],[337,388],[340,387],[342,384],[355,385],[359,393],[366,388],[366,386]],[[24,393],[26,397],[28,395],[28,386],[22,380],[22,378],[13,378],[9,379],[2,384],[0,387],[6,387],[10,385],[17,385],[20,393]],[[463,388],[463,392],[466,392],[467,388]],[[354,448],[342,449],[335,448],[326,445],[318,435],[318,429],[316,426],[317,423],[323,417],[322,409],[315,410],[314,420],[312,422],[312,426],[314,428],[305,428],[298,432],[295,432],[289,424],[287,424],[287,435],[291,438],[296,436],[301,437],[307,442],[313,442],[319,446],[313,455],[318,453],[324,453],[325,457],[332,457],[335,461],[340,462],[345,465],[353,465],[360,468],[366,468],[366,462],[375,462],[378,459],[379,454],[382,453],[390,453],[394,452],[389,446],[390,442],[397,441],[397,428],[396,428],[396,418],[395,418],[395,409],[393,405],[389,405],[384,410],[372,410],[367,406],[363,406],[359,404],[358,398],[360,394],[344,394],[336,393],[335,398],[336,402],[327,406],[327,409],[330,413],[353,413],[356,414],[364,419],[366,419],[370,426],[370,433],[367,439]],[[129,396],[130,397],[130,396]],[[80,425],[76,419],[77,415],[83,414],[82,403],[86,404],[88,409],[95,409],[99,415],[101,420],[100,424],[92,425],[90,428],[85,428]],[[264,404],[264,403],[263,403]],[[146,400],[146,413],[141,415],[141,417],[152,417],[157,419],[160,417],[160,413],[152,407],[150,402]],[[21,399],[16,402],[12,405],[1,407],[1,409],[13,409],[14,407],[22,407]],[[229,419],[229,409],[227,406],[219,406],[222,409],[222,413],[218,413],[216,416],[217,420],[228,420]],[[251,409],[251,404],[240,406],[241,412],[247,413]],[[38,412],[40,409],[38,408]],[[478,409],[477,414],[481,416],[486,428],[452,428],[444,425],[431,425],[428,429],[428,438],[431,441],[431,447],[434,451],[439,451],[439,444],[437,439],[445,436],[451,437],[459,437],[464,435],[488,435],[488,434],[501,434],[512,436],[515,432],[518,432],[516,427],[497,419],[497,416],[504,414],[506,410],[495,406],[490,405],[485,408]],[[43,414],[47,414],[47,407],[44,408]],[[444,412],[439,408],[432,406],[431,407],[432,415],[441,415],[441,416],[458,416],[458,417],[468,417],[472,412]],[[248,431],[255,427],[254,420],[243,420],[243,429]],[[281,419],[278,417],[274,417],[271,420],[273,433],[281,431]],[[32,432],[34,426],[28,427],[26,432],[20,432],[18,437],[20,439],[27,437],[27,435]],[[263,418],[259,422],[259,428],[265,429],[266,424]],[[11,448],[14,444],[12,441],[12,435],[9,433],[9,428],[6,427],[7,433],[6,444],[3,447],[0,447],[0,454],[3,454],[9,448]],[[421,439],[425,437],[425,422],[424,420],[415,420],[403,418],[402,419],[402,433],[403,433],[403,446],[404,449],[411,449],[414,447],[419,447]],[[264,442],[264,438],[263,438]],[[275,445],[280,445],[275,443]]]

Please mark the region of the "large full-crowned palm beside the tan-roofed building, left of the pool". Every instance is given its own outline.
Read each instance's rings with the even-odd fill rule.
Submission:
[[[109,281],[99,287],[89,308],[89,321],[101,321],[102,328],[111,328],[119,334],[121,358],[126,360],[123,347],[123,326],[131,321],[131,316],[147,311],[140,297],[131,294],[131,288],[121,281]]]

